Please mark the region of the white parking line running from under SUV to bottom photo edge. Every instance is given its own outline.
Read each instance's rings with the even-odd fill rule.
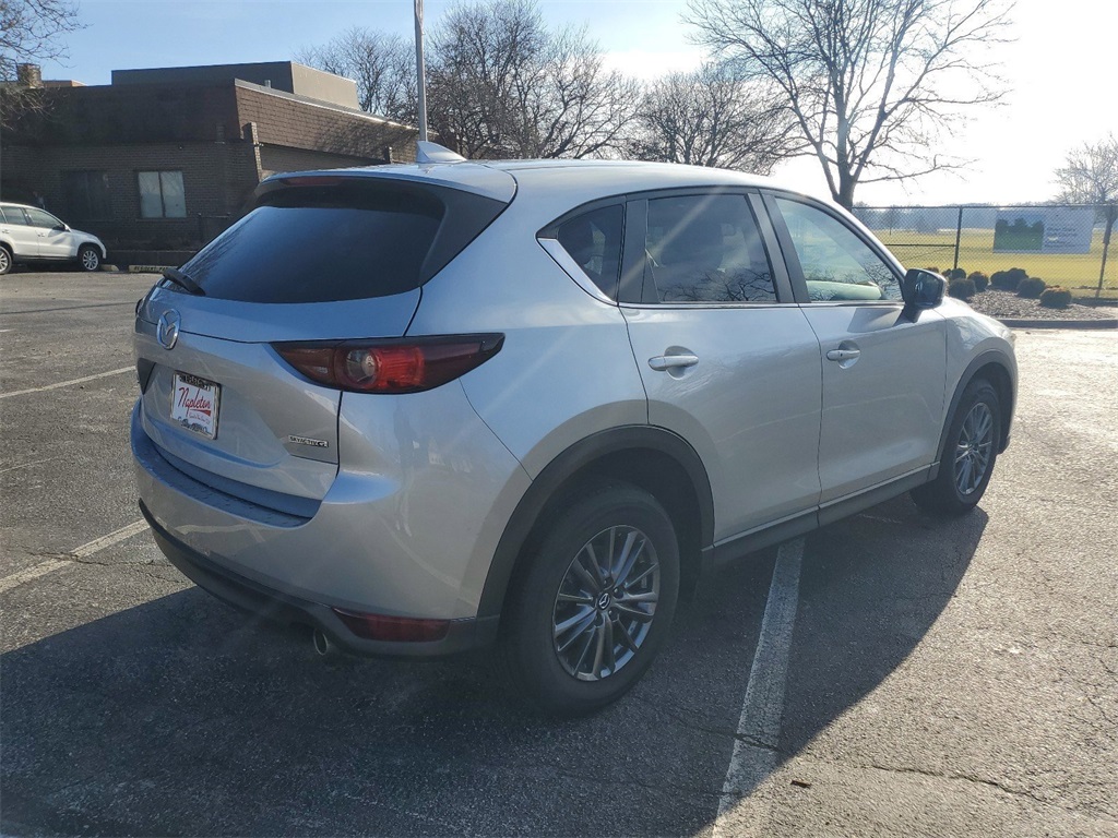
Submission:
[[[738,718],[738,739],[722,783],[713,837],[762,835],[766,811],[750,799],[777,766],[784,691],[788,680],[792,632],[799,604],[799,568],[804,540],[780,545],[769,585],[768,603],[749,670],[746,698]],[[732,821],[732,825],[731,825]]]

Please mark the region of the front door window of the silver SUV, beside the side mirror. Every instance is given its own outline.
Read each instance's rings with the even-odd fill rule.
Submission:
[[[897,274],[839,219],[799,201],[776,199],[813,303],[900,299]]]

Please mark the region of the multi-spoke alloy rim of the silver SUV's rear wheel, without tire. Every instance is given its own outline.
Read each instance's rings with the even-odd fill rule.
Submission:
[[[660,599],[660,562],[648,536],[612,526],[578,551],[552,611],[556,655],[569,675],[600,680],[628,664],[648,636]]]

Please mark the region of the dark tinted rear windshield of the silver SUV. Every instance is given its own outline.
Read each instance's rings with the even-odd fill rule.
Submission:
[[[457,194],[451,208],[476,198]],[[429,279],[499,211],[467,217],[471,229],[447,236],[447,202],[409,185],[294,187],[259,200],[182,266],[206,296],[326,303],[401,294]],[[443,253],[437,239],[456,249]]]

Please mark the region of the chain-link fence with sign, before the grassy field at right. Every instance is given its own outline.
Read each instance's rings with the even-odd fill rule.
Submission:
[[[1023,268],[1077,296],[1093,294],[1101,277],[1108,297],[1118,296],[1118,244],[1106,240],[1107,213],[1115,211],[1090,204],[854,208],[906,267],[987,275]]]

